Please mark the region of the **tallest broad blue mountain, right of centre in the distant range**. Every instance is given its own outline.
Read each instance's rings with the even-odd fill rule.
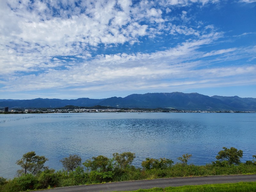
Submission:
[[[198,93],[146,93],[132,94],[124,98],[111,97],[100,102],[102,106],[177,108],[183,110],[229,110],[223,101]],[[231,110],[234,110],[232,108]]]

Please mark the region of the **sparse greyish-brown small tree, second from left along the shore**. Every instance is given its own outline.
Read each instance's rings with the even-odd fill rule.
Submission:
[[[60,160],[60,162],[67,171],[74,171],[76,167],[81,165],[82,158],[78,155],[69,155],[69,157],[64,157]]]

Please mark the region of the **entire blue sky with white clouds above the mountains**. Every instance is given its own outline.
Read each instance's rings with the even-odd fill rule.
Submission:
[[[256,0],[1,0],[0,99],[256,98]]]

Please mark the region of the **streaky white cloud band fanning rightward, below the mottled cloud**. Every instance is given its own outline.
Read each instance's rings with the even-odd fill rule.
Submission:
[[[134,82],[140,82],[141,85],[136,85],[137,87],[148,89],[156,84],[159,84],[159,87],[187,85],[191,82],[201,82],[200,84],[207,82],[208,84],[209,82],[219,83],[227,77],[248,76],[249,74],[255,76],[256,68],[254,66],[216,68],[214,65],[211,66],[211,63],[215,63],[214,59],[207,61],[208,68],[201,68],[204,65],[204,61],[201,59],[206,54],[216,55],[241,51],[236,48],[205,54],[198,51],[201,46],[209,45],[219,37],[221,34],[212,33],[204,35],[198,40],[184,42],[174,48],[155,53],[99,55],[92,61],[70,66],[68,69],[50,70],[39,75],[15,77],[11,84],[5,82],[4,89],[22,91],[24,89],[84,87],[81,89],[92,91],[95,87],[102,86],[110,90],[121,89],[121,87],[116,86],[116,82],[124,87],[127,87],[127,84],[132,86]],[[183,78],[187,80],[178,81],[178,79]],[[164,79],[169,79],[170,83],[161,83]],[[192,81],[192,79],[197,80]]]

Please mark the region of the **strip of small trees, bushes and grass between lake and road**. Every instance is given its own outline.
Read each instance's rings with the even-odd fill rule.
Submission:
[[[131,152],[114,153],[113,158],[92,157],[83,164],[81,157],[70,155],[60,160],[64,169],[55,171],[44,166],[47,158],[36,156],[36,153],[31,151],[16,162],[21,166],[17,171],[18,177],[13,180],[0,177],[0,190],[11,192],[127,180],[256,173],[256,155],[253,155],[252,161],[241,163],[243,151],[236,148],[224,147],[216,156],[217,161],[212,164],[200,166],[188,164],[191,156],[191,154],[183,154],[177,158],[181,163],[176,164],[173,164],[171,159],[146,158],[141,163],[142,168],[136,168],[132,165],[136,156]],[[255,183],[253,186],[255,188]],[[169,188],[164,191],[169,191]]]

